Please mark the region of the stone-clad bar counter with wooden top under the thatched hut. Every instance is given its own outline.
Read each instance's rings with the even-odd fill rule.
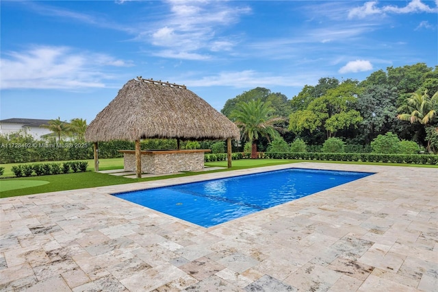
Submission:
[[[123,153],[125,171],[136,171],[136,151],[118,150]],[[204,168],[204,153],[210,149],[142,150],[142,173],[164,174],[179,171],[196,171]]]

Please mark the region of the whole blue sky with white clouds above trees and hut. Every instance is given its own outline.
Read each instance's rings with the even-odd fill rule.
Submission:
[[[0,1],[0,119],[90,123],[139,75],[217,110],[257,86],[297,95],[438,64],[438,0]]]

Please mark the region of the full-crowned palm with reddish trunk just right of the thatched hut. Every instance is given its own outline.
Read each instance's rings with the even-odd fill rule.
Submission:
[[[274,109],[269,103],[263,103],[261,99],[248,102],[241,101],[231,112],[231,119],[242,130],[242,136],[252,143],[251,158],[257,158],[256,141],[259,136],[275,136],[274,122],[283,118],[272,117]]]

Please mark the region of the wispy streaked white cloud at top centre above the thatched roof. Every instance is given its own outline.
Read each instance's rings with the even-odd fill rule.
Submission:
[[[231,51],[236,43],[233,36],[218,37],[218,30],[236,23],[242,14],[250,12],[247,7],[231,7],[224,1],[167,3],[170,5],[170,13],[164,16],[164,20],[149,23],[149,26],[155,28],[148,34],[139,34],[136,39],[163,47],[163,51],[155,53],[155,56],[170,55],[170,58],[207,60],[211,56],[206,51]]]

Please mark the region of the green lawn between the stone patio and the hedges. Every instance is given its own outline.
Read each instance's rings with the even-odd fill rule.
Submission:
[[[394,166],[411,166],[411,167],[435,167],[438,165],[407,165],[394,163],[373,163],[373,162],[337,162],[337,161],[316,161],[316,160],[276,160],[276,159],[242,159],[233,160],[233,167],[231,169],[219,169],[209,172],[229,171],[235,169],[248,169],[253,167],[264,167],[269,165],[283,165],[287,163],[297,162],[326,162],[326,163],[343,163],[353,165],[394,165]],[[12,167],[10,164],[9,166]],[[227,167],[226,161],[220,162],[206,162],[208,167]],[[5,165],[2,165],[3,167]],[[9,168],[10,168],[9,167]],[[91,171],[94,169],[93,160],[88,160],[87,172],[68,173],[59,175],[42,175],[31,176],[25,178],[9,178],[0,180],[0,197],[14,197],[19,195],[31,195],[36,193],[49,193],[53,191],[66,191],[78,188],[92,188],[96,186],[110,186],[114,184],[129,184],[132,182],[145,182],[150,180],[163,180],[166,178],[178,178],[188,175],[198,175],[199,173],[187,172],[175,175],[164,175],[157,178],[141,178],[131,179],[123,178],[116,175],[109,175],[105,173],[95,173]],[[123,158],[101,159],[99,169],[123,169]],[[6,169],[5,169],[6,170]],[[12,173],[10,174],[12,175]],[[47,183],[48,182],[48,183]],[[33,185],[40,184],[40,185]]]

